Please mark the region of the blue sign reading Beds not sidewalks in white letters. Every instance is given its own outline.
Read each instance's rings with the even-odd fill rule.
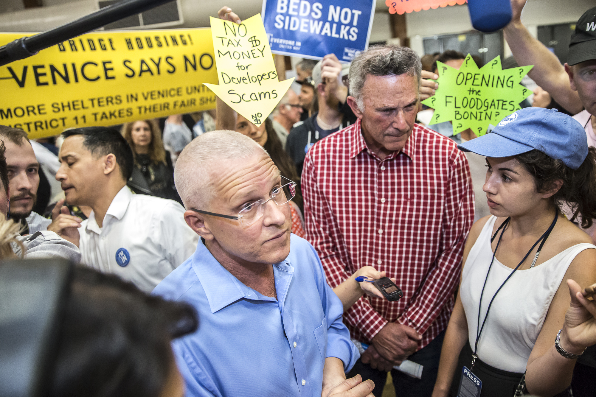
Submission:
[[[271,52],[349,63],[368,47],[375,0],[263,0]]]

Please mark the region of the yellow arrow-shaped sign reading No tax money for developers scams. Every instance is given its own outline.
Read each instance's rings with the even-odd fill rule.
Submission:
[[[229,107],[260,126],[290,88],[279,81],[260,14],[241,24],[210,17],[219,85],[205,84]]]

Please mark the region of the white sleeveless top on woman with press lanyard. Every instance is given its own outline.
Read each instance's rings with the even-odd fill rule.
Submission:
[[[461,278],[461,302],[474,350],[480,293],[492,259],[491,237],[496,216],[491,216],[470,250]],[[498,238],[498,236],[497,236]],[[548,241],[547,243],[548,244]],[[532,269],[517,270],[496,295],[478,342],[478,357],[499,370],[523,373],[542,329],[552,297],[572,260],[593,244],[569,247]],[[480,309],[480,327],[492,296],[513,269],[495,258],[486,281]],[[470,365],[470,363],[468,363]]]

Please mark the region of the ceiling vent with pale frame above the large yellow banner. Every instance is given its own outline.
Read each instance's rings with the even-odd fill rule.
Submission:
[[[98,10],[116,4],[121,0],[100,0],[97,2]],[[176,26],[184,23],[180,0],[162,4],[151,8],[144,13],[131,15],[104,26],[104,30],[116,29],[157,29],[160,27]]]

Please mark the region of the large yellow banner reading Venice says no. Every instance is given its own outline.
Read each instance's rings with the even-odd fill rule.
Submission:
[[[32,35],[30,33],[29,35]],[[0,45],[27,36],[1,33]],[[215,108],[210,29],[94,32],[0,67],[0,124],[30,138]]]

